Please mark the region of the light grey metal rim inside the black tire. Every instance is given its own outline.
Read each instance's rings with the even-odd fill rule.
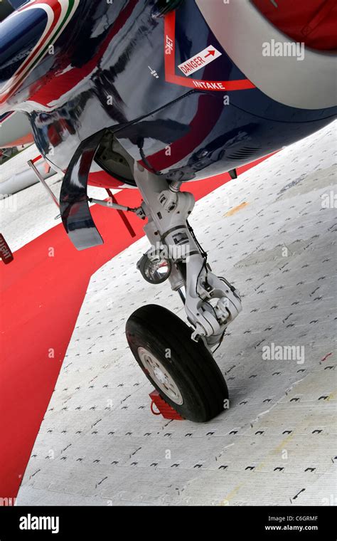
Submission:
[[[149,372],[151,379],[156,382],[159,389],[161,389],[174,404],[181,406],[183,404],[183,396],[173,377],[169,374],[164,365],[161,364],[153,353],[149,352],[144,347],[138,348],[138,354],[139,359],[141,359],[141,364],[143,364],[146,371]]]

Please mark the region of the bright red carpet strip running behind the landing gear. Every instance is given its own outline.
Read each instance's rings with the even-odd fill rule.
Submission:
[[[200,199],[228,180],[228,174],[219,175],[190,182],[185,189]],[[140,196],[123,190],[117,201],[137,206]],[[78,252],[60,224],[16,251],[9,265],[0,263],[0,498],[18,493],[91,275],[144,234],[143,222],[132,214],[135,238],[117,212],[94,206],[92,215],[103,246]]]

